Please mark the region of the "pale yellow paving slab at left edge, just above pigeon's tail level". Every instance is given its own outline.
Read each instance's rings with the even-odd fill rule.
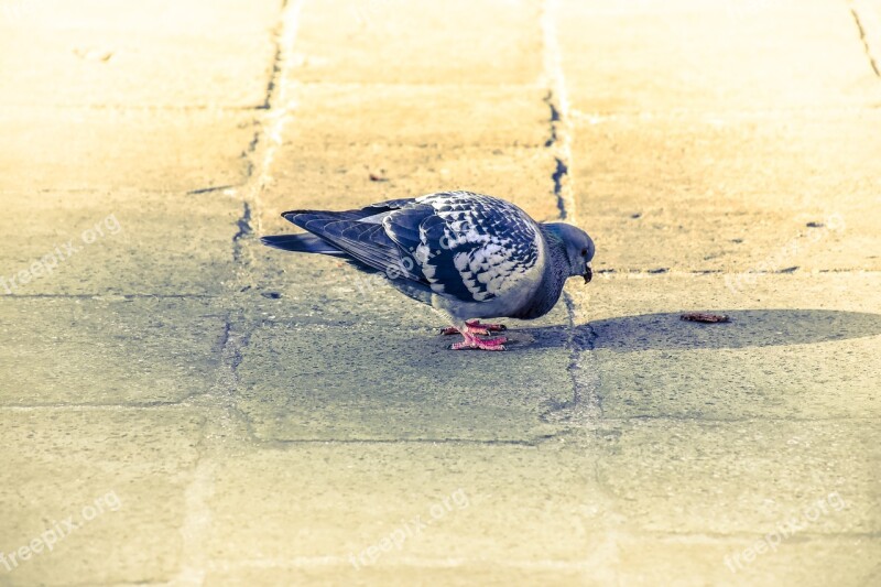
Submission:
[[[216,109],[2,109],[0,193],[240,184],[254,124],[253,112]]]

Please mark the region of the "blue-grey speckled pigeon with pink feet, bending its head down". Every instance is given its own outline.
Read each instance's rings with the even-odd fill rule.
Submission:
[[[282,217],[308,233],[267,236],[276,249],[344,259],[382,272],[403,294],[432,306],[460,334],[454,350],[505,350],[492,337],[534,319],[559,300],[568,278],[592,278],[594,241],[565,222],[536,222],[518,206],[471,192],[438,192],[345,211],[291,210]],[[489,337],[489,338],[483,338]]]

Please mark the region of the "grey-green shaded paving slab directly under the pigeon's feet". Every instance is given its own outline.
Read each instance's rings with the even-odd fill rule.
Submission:
[[[236,403],[264,441],[533,442],[572,400],[569,351],[558,327],[510,337],[488,356],[449,351],[437,328],[267,318],[241,350]]]

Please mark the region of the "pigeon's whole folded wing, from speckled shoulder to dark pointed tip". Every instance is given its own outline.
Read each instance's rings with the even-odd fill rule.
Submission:
[[[344,256],[463,302],[535,284],[544,271],[539,226],[516,206],[489,196],[450,192],[282,216]]]

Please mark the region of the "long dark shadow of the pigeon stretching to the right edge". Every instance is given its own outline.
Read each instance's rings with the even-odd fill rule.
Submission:
[[[574,331],[566,328],[520,328],[534,338],[524,348],[553,348],[572,344],[576,349],[613,352],[676,349],[726,349],[812,345],[881,334],[881,314],[831,309],[722,309],[714,314],[728,323],[685,322],[678,313],[641,314],[592,320]]]

